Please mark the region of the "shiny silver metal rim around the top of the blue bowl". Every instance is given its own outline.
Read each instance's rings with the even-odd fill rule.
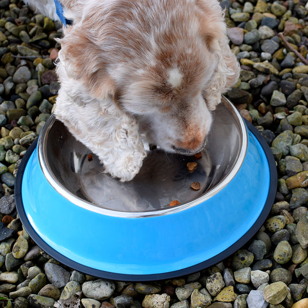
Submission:
[[[44,125],[40,133],[40,136],[38,137],[38,142],[37,142],[38,161],[40,162],[40,166],[41,166],[41,169],[43,171],[45,178],[50,183],[50,185],[55,189],[55,191],[57,191],[60,195],[62,195],[69,202],[75,204],[76,206],[80,206],[84,209],[94,211],[95,213],[102,214],[102,215],[108,215],[108,216],[114,216],[114,217],[124,217],[124,218],[151,217],[151,216],[160,216],[160,215],[168,215],[168,214],[177,213],[179,211],[193,207],[197,204],[203,203],[204,201],[216,195],[220,190],[226,187],[226,185],[230,181],[232,181],[232,179],[237,175],[238,171],[243,165],[243,162],[245,160],[246,153],[247,153],[247,147],[248,147],[247,127],[239,111],[228,99],[226,99],[225,97],[222,97],[221,104],[223,104],[228,109],[230,114],[233,115],[233,118],[235,119],[235,123],[239,127],[241,143],[240,143],[240,149],[237,153],[236,160],[233,163],[232,167],[230,168],[230,171],[224,176],[224,178],[219,183],[217,183],[214,187],[206,191],[205,194],[195,199],[192,199],[187,202],[176,205],[176,206],[165,207],[165,208],[160,208],[160,209],[144,210],[144,211],[113,210],[113,209],[97,206],[87,200],[84,200],[74,195],[71,191],[66,189],[62,185],[62,183],[55,178],[55,176],[53,175],[52,169],[50,165],[48,164],[48,161],[45,160],[45,157],[47,157],[47,154],[46,154],[47,153],[47,141],[48,141],[47,137],[48,137],[49,131],[51,130],[53,123],[55,121],[59,121],[55,118],[54,114],[51,114],[50,118],[46,121],[46,124]]]

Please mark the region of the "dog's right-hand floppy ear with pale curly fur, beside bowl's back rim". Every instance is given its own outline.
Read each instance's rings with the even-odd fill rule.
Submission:
[[[210,84],[205,89],[205,98],[209,110],[215,110],[221,101],[221,94],[234,85],[240,74],[240,66],[236,56],[229,47],[227,27],[224,22],[224,12],[217,1],[197,0],[197,6],[202,10],[201,33],[207,48],[217,59],[217,66]]]

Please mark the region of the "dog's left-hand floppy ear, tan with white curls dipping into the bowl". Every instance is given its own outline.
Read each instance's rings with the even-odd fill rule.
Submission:
[[[57,65],[61,89],[54,113],[99,157],[106,172],[129,181],[146,156],[143,137],[136,119],[116,104],[115,83],[107,72],[104,52],[85,33],[72,26],[61,40]]]

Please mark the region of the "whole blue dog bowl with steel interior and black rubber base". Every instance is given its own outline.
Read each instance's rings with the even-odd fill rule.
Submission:
[[[225,98],[213,123],[202,158],[151,149],[121,183],[51,115],[18,169],[24,227],[54,259],[106,279],[167,279],[222,261],[262,226],[277,174],[260,133]]]

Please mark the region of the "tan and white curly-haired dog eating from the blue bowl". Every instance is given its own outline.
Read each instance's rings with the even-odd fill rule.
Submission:
[[[106,172],[132,180],[146,144],[201,151],[240,70],[217,0],[60,2],[72,23],[59,40],[54,113]]]

